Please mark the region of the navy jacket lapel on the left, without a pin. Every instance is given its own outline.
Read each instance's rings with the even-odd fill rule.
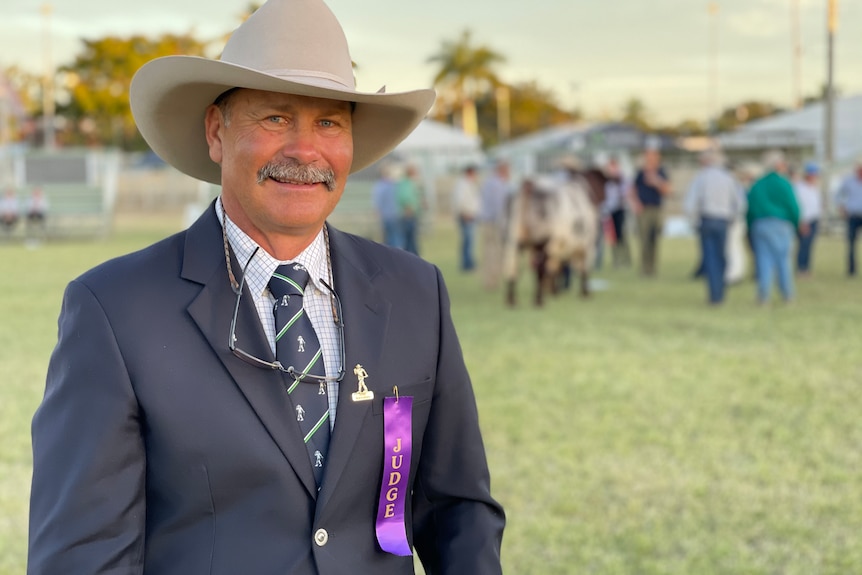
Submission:
[[[316,497],[317,487],[311,462],[299,426],[291,417],[290,401],[283,386],[284,376],[278,371],[250,365],[234,356],[228,348],[236,294],[230,286],[221,243],[221,226],[215,209],[210,206],[186,235],[182,276],[203,284],[197,298],[188,307],[189,314],[309,494]],[[236,260],[232,261],[232,265],[234,274],[238,275],[241,267]],[[237,346],[261,359],[272,361],[272,350],[266,341],[257,310],[248,288],[244,290],[237,316]]]

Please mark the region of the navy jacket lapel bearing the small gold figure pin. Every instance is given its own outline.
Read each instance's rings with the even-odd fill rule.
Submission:
[[[356,249],[349,236],[331,227],[329,236],[335,289],[344,310],[346,375],[339,386],[335,427],[319,506],[325,505],[336,491],[357,441],[361,441],[365,419],[371,417],[370,401],[355,402],[351,398],[351,394],[357,391],[357,378],[353,373],[356,364],[362,364],[368,371],[367,385],[374,391],[375,399],[386,392],[383,382],[375,380],[374,374],[386,336],[390,309],[389,302],[380,296],[372,283],[379,272],[376,264]]]

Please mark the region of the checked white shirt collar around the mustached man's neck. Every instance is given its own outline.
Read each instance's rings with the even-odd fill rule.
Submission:
[[[240,266],[245,266],[246,269],[246,285],[251,293],[258,295],[263,294],[269,284],[269,278],[275,272],[275,269],[284,264],[300,263],[308,270],[310,281],[314,287],[320,291],[328,292],[329,290],[321,283],[321,279],[332,285],[332,277],[329,273],[329,259],[327,258],[326,241],[324,238],[323,229],[321,229],[314,240],[293,260],[282,261],[274,258],[265,249],[251,239],[248,234],[242,231],[233,220],[224,212],[221,197],[216,200],[216,214],[219,222],[224,222],[227,232],[227,241],[231,249],[236,255],[236,259]],[[255,253],[257,250],[257,253]],[[249,262],[249,258],[254,254],[254,258]],[[334,287],[334,286],[333,286]]]

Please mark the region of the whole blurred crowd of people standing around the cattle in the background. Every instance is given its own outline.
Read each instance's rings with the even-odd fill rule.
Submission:
[[[683,212],[697,231],[700,260],[693,276],[706,284],[706,301],[718,306],[729,285],[750,276],[756,283],[756,302],[767,305],[777,291],[785,302],[795,297],[795,278],[808,278],[824,215],[820,167],[805,162],[794,170],[778,150],[764,154],[760,164],[727,165],[714,149],[699,155],[699,169],[683,198]],[[560,162],[565,168],[564,160]],[[645,278],[658,271],[660,240],[665,227],[666,202],[672,194],[671,175],[659,150],[644,150],[632,177],[627,178],[620,158],[607,157],[601,164],[606,178],[603,197],[596,201],[600,214],[595,267],[602,265],[605,244],[614,267],[633,263],[629,230],[636,232],[638,271]],[[375,185],[375,206],[383,224],[384,243],[405,247],[403,236],[391,230],[408,229],[403,207],[387,192],[396,186],[391,166]],[[482,177],[475,164],[459,173],[452,191],[452,213],[460,234],[459,267],[470,272],[483,269],[483,285],[499,283],[505,237],[506,199],[514,193],[509,165],[500,161]],[[385,200],[385,198],[393,198]],[[836,196],[836,206],[846,220],[847,274],[856,274],[855,243],[862,230],[862,159],[847,176]],[[634,222],[627,221],[633,217]],[[402,222],[402,223],[399,223]],[[477,229],[481,242],[477,242]],[[405,248],[409,249],[409,248]],[[476,252],[482,257],[477,258]]]

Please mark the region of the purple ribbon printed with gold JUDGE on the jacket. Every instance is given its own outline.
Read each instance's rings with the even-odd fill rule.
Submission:
[[[377,542],[393,555],[412,555],[404,524],[410,454],[413,451],[413,398],[383,398],[383,480],[377,504]]]

